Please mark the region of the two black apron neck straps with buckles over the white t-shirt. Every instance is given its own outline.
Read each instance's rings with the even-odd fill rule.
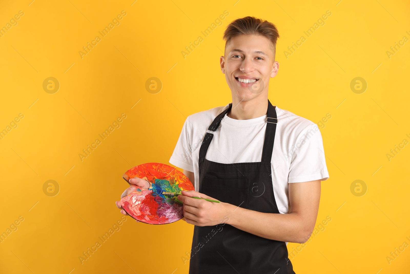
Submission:
[[[214,133],[219,126],[221,125],[221,121],[225,114],[228,113],[232,108],[232,103],[229,104],[229,107],[225,109],[225,111],[221,112],[212,124],[208,127],[208,130],[205,134],[203,139],[202,145],[199,149],[199,158],[205,158],[206,152],[208,147],[211,143],[212,138],[214,137]],[[271,102],[268,99],[268,111],[267,111],[267,118],[266,118],[266,132],[265,132],[265,140],[262,150],[262,162],[271,162],[272,158],[272,151],[273,151],[273,142],[275,140],[275,133],[276,133],[276,123],[278,122],[276,109],[272,106]],[[212,133],[209,131],[213,131]]]

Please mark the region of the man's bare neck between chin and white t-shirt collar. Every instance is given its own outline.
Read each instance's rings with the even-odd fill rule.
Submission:
[[[233,98],[232,109],[228,117],[236,120],[248,120],[266,115],[268,109],[268,98],[259,96],[249,101],[241,101]]]

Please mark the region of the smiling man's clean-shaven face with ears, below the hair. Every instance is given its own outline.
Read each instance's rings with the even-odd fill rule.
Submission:
[[[221,56],[221,70],[232,97],[248,101],[268,92],[269,79],[278,73],[271,41],[263,36],[239,35]]]

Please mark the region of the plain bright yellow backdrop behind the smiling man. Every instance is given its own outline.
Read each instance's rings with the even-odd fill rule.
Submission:
[[[31,1],[0,8],[1,273],[188,273],[191,225],[114,201],[231,101],[222,34],[248,15],[277,25],[269,99],[318,123],[330,174],[295,272],[408,271],[408,1]]]

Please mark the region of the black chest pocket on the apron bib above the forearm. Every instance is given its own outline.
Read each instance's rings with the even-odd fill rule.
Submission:
[[[221,202],[248,208],[248,179],[214,179],[203,177],[201,192]]]

